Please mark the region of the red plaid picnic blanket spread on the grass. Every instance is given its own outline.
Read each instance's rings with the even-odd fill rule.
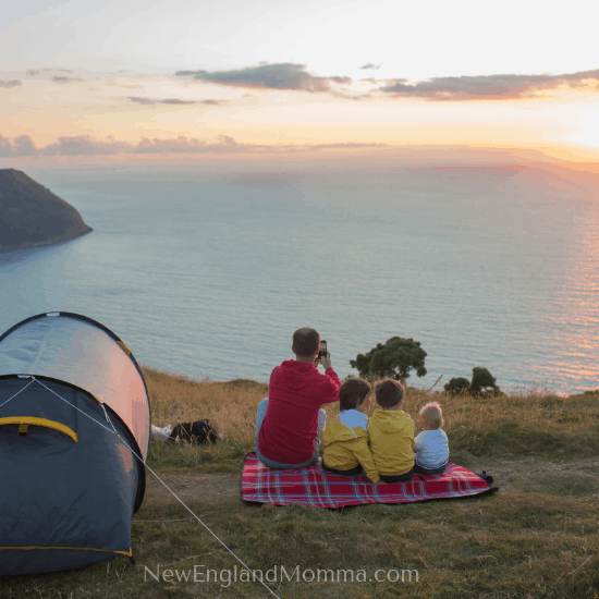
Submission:
[[[443,474],[414,475],[409,482],[371,485],[366,476],[338,476],[325,472],[320,463],[296,470],[272,470],[256,457],[245,456],[242,499],[288,505],[342,508],[362,503],[406,503],[427,499],[469,497],[497,491],[473,472],[448,463]]]

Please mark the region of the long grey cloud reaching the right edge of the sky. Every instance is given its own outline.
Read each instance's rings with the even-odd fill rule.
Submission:
[[[505,100],[533,98],[539,91],[557,89],[562,85],[599,90],[599,69],[563,75],[480,75],[435,77],[416,84],[407,83],[407,80],[392,80],[388,83],[378,89],[395,98]]]

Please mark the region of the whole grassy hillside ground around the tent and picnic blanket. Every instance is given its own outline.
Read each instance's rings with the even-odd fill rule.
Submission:
[[[281,598],[599,597],[597,392],[476,400],[408,389],[404,409],[414,417],[427,401],[439,401],[451,459],[487,470],[500,491],[328,511],[241,501],[243,456],[254,447],[265,384],[196,382],[148,369],[146,379],[154,424],[209,418],[223,435],[210,448],[152,443],[148,464],[245,563],[270,577],[279,569],[279,582],[269,586]],[[327,411],[333,417],[337,408]],[[235,559],[159,487],[148,480],[133,519],[136,566],[117,558],[77,571],[0,577],[0,597],[271,597],[258,582],[242,582]],[[291,580],[281,582],[281,566]],[[310,572],[340,569],[353,571],[354,582],[331,582],[330,574],[310,582]],[[172,577],[162,577],[164,570]],[[216,572],[201,582],[207,570]],[[190,580],[178,582],[185,573]]]

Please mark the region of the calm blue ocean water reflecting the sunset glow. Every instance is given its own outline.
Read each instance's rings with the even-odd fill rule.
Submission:
[[[144,365],[267,381],[304,326],[349,360],[393,335],[437,389],[599,387],[599,196],[506,169],[25,170],[94,228],[0,254],[0,332],[45,311],[113,330]]]

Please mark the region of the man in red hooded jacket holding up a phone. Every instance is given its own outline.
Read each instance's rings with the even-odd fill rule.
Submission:
[[[341,381],[331,368],[331,354],[318,360],[320,335],[314,329],[293,333],[295,359],[270,375],[268,399],[258,405],[256,455],[269,468],[304,468],[318,462],[320,433],[327,414],[320,406],[339,401]],[[321,362],[325,374],[316,366]]]

